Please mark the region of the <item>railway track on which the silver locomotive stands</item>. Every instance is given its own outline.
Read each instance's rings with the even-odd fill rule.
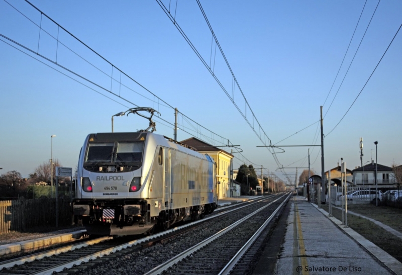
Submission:
[[[262,201],[267,200],[273,199],[265,197]],[[121,257],[130,258],[132,255],[135,255],[136,263],[138,260],[140,262],[147,262],[147,266],[149,267],[143,267],[142,264],[139,264],[138,267],[140,271],[132,270],[134,271],[132,273],[142,274],[151,268],[162,264],[165,260],[172,258],[175,256],[175,254],[179,254],[189,248],[185,247],[186,245],[183,247],[182,245],[179,245],[180,247],[175,247],[172,249],[170,247],[172,245],[171,243],[173,243],[173,246],[175,246],[175,241],[169,241],[170,239],[176,239],[176,241],[179,241],[184,235],[190,236],[189,238],[193,240],[197,239],[198,237],[205,239],[207,237],[204,235],[211,236],[216,232],[201,234],[194,233],[193,231],[205,233],[206,231],[210,231],[206,230],[206,228],[210,229],[212,227],[211,224],[220,224],[220,228],[215,229],[215,231],[220,231],[227,227],[228,224],[233,223],[233,220],[239,219],[238,216],[244,216],[244,212],[252,212],[256,209],[259,209],[261,207],[260,204],[266,204],[266,202],[249,201],[246,203],[233,205],[232,207],[223,207],[219,209],[222,213],[214,213],[214,215],[209,215],[206,219],[129,242],[127,242],[127,240],[124,238],[112,239],[104,237],[96,240],[90,240],[92,243],[85,242],[84,244],[80,244],[79,247],[68,245],[52,251],[29,255],[25,258],[0,262],[0,269],[2,269],[0,270],[0,274],[52,274],[54,272],[82,273],[82,271],[90,273],[90,270],[92,268],[98,268],[97,266],[100,266],[102,269],[102,265],[108,260],[119,260]],[[217,220],[220,222],[217,223]],[[177,234],[180,234],[179,237]],[[196,234],[197,238],[191,238],[191,234]],[[166,247],[168,250],[170,249],[173,251],[170,251],[169,253],[164,252],[163,248]],[[160,257],[149,260],[150,258],[153,258],[151,255],[155,251],[156,255],[160,255]],[[172,253],[174,253],[174,255],[172,255]],[[144,258],[141,259],[141,256]],[[155,256],[155,253],[153,256]],[[128,273],[131,272],[129,271]]]

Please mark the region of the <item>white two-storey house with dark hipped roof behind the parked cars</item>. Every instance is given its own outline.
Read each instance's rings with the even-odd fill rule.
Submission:
[[[357,186],[375,185],[375,163],[369,164],[352,170],[353,182]],[[393,185],[396,184],[395,175],[392,168],[377,163],[377,185]]]

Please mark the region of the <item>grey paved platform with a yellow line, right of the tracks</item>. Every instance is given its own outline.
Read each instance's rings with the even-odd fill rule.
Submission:
[[[402,274],[402,263],[304,197],[289,203],[275,274]]]

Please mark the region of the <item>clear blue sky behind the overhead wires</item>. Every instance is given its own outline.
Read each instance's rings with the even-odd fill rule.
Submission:
[[[40,13],[28,3],[9,3],[19,12],[0,0],[0,34],[35,51],[39,49],[50,60],[57,57],[58,64],[97,85],[112,87],[115,94],[131,103],[160,111],[161,118],[174,123],[172,109],[125,77],[122,83],[131,90],[122,88],[117,81],[111,82],[110,77],[94,68],[110,75],[110,64],[85,50],[48,19],[43,17],[41,23]],[[241,145],[242,154],[252,163],[263,165],[269,172],[276,170],[278,165],[271,153],[256,147],[262,142],[156,1],[31,3],[164,102],[222,136],[222,143],[229,139]],[[169,1],[163,3],[169,6]],[[212,35],[197,3],[178,1],[177,10],[175,1],[171,3],[172,15],[198,52],[207,62],[214,60]],[[289,136],[276,145],[320,144],[320,128],[315,122],[320,119],[320,106],[324,106],[326,170],[335,167],[341,157],[348,168],[359,166],[360,137],[364,144],[363,163],[375,160],[373,142],[378,140],[378,163],[402,164],[402,33],[396,35],[367,82],[402,24],[401,1],[380,2],[366,32],[378,3],[367,1],[338,78],[365,1],[200,3],[251,110],[273,144]],[[60,44],[43,31],[39,39],[39,28],[33,22],[42,24],[54,37],[59,35]],[[0,173],[17,170],[28,176],[35,167],[49,161],[51,135],[56,135],[53,158],[75,169],[86,135],[110,132],[112,115],[135,107],[36,54],[27,54],[8,39],[0,39]],[[231,74],[219,56],[215,58],[214,71],[231,93]],[[115,79],[120,79],[117,69],[113,73]],[[334,129],[360,91],[353,107]],[[251,124],[256,124],[239,95],[235,94],[238,107],[247,113]],[[157,133],[173,137],[170,125],[156,121]],[[186,122],[181,118],[181,123],[184,127]],[[314,125],[299,131],[311,124]],[[117,132],[147,126],[147,121],[133,115],[115,118]],[[207,131],[203,134],[209,135]],[[178,140],[188,137],[178,132]],[[320,174],[319,147],[311,147],[310,152],[311,167]],[[285,153],[276,155],[284,167],[308,166],[308,147],[288,147]],[[240,156],[234,167],[243,162]],[[303,168],[299,173],[300,170]],[[285,171],[294,179],[295,169]],[[276,175],[285,179],[281,172]]]

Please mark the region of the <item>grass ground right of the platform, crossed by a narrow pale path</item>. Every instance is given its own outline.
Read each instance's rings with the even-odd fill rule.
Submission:
[[[322,208],[328,212],[328,205],[322,206]],[[369,213],[367,212],[368,210],[370,211]],[[383,211],[382,213],[381,210]],[[353,211],[366,217],[378,220],[383,224],[400,231],[400,229],[397,229],[395,228],[396,226],[392,225],[399,223],[397,227],[401,228],[400,217],[402,214],[395,214],[395,212],[391,209],[384,210],[383,207],[376,207],[375,205],[351,205],[351,207],[348,206],[348,211]],[[340,209],[332,208],[332,215],[338,220],[342,221],[342,211]],[[392,257],[402,262],[401,239],[389,233],[382,227],[374,224],[373,222],[350,213],[348,213],[348,226],[390,254]]]

